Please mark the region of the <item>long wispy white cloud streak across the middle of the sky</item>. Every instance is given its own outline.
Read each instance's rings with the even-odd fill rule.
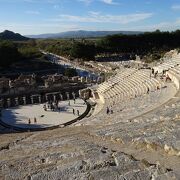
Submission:
[[[58,18],[49,19],[53,22],[79,22],[79,23],[114,23],[128,24],[142,21],[152,17],[152,13],[136,13],[127,15],[102,15],[99,12],[90,12],[87,16],[60,14]]]

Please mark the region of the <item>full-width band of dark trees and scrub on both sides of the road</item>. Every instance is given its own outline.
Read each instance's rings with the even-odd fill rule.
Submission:
[[[175,32],[157,30],[136,35],[117,34],[100,39],[47,39],[22,42],[0,40],[0,67],[9,67],[23,60],[28,62],[25,61],[27,59],[44,60],[39,48],[71,60],[75,58],[83,61],[95,60],[95,56],[99,54],[117,53],[150,57],[147,62],[151,62],[158,60],[164,52],[179,47],[180,30]]]

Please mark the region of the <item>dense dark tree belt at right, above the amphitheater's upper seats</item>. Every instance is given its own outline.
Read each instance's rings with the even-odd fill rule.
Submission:
[[[98,42],[102,51],[146,54],[159,49],[169,50],[180,45],[180,30],[175,32],[146,32],[139,35],[107,36]]]

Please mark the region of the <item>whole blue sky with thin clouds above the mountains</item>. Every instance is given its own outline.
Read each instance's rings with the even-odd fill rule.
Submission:
[[[180,29],[180,0],[0,0],[0,31]]]

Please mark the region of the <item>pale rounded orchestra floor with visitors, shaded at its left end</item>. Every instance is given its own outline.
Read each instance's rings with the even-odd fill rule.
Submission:
[[[69,105],[70,103],[70,105]],[[82,99],[60,102],[60,111],[44,110],[44,104],[18,106],[2,110],[1,120],[12,127],[39,129],[61,125],[83,114],[87,104]],[[74,113],[73,113],[74,109]]]

